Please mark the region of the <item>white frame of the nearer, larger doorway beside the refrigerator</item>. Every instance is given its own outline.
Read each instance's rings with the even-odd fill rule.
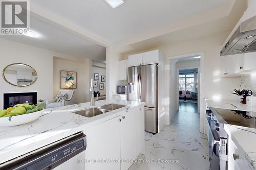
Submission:
[[[191,53],[191,54],[184,54],[180,56],[173,56],[173,57],[167,57],[166,63],[167,68],[169,67],[170,60],[173,59],[181,59],[181,58],[189,58],[193,56],[201,56],[200,59],[200,75],[199,75],[199,85],[200,85],[200,132],[204,133],[204,52],[198,52],[198,53]],[[167,101],[170,101],[170,69],[166,71],[166,82],[167,82]],[[170,117],[171,114],[168,112],[166,113],[167,121],[166,123],[170,124]]]

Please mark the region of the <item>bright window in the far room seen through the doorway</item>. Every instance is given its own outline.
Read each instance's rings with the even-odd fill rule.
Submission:
[[[180,91],[195,91],[194,74],[179,75],[179,90]]]

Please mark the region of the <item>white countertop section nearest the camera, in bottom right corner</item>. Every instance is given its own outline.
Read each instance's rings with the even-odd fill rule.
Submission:
[[[256,169],[256,129],[224,124],[224,129],[232,141],[245,152],[248,167]]]

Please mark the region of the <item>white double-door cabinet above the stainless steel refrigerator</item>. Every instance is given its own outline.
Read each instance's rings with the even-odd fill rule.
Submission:
[[[129,66],[157,64],[159,63],[159,50],[153,50],[145,53],[128,56]]]

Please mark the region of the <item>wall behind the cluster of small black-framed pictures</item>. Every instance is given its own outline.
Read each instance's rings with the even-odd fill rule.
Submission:
[[[105,66],[105,64],[92,62],[90,79],[94,80],[94,74],[95,73],[99,74],[99,80],[98,80],[98,87],[95,87],[94,91],[99,91],[100,95],[105,95],[106,94],[106,82],[101,82],[101,76],[106,76],[106,66]],[[99,89],[99,84],[100,83],[104,84],[104,89],[103,90]]]

